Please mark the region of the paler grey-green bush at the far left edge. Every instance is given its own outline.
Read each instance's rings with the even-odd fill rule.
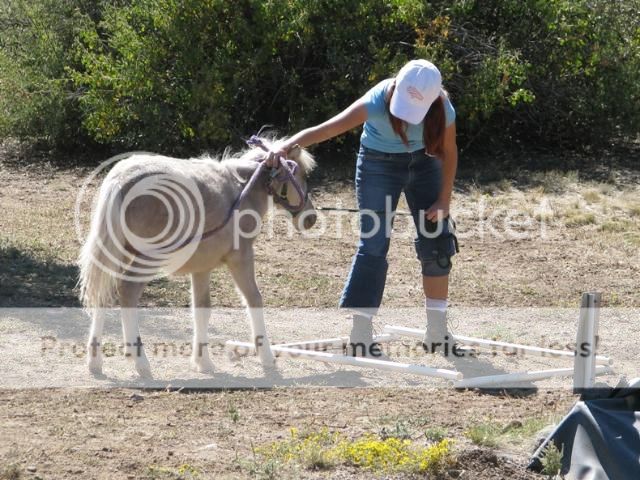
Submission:
[[[97,1],[8,0],[0,5],[0,138],[56,147],[88,141],[68,69]]]

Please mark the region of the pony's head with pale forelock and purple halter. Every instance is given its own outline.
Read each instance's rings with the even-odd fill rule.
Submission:
[[[316,162],[309,152],[298,145],[287,156],[287,161],[283,160],[280,167],[271,173],[269,191],[276,204],[291,213],[296,229],[308,230],[317,219],[307,185],[307,176]]]

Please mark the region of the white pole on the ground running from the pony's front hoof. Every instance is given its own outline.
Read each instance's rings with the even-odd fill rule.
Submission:
[[[254,350],[255,347],[249,342],[228,341],[228,346],[239,347],[245,350]],[[302,360],[315,360],[324,363],[336,363],[339,365],[350,365],[354,367],[373,368],[376,370],[385,370],[396,373],[408,373],[412,375],[421,375],[423,377],[444,378],[446,380],[461,380],[462,373],[455,370],[446,370],[443,368],[431,368],[423,365],[412,365],[409,363],[388,362],[366,357],[351,357],[347,355],[338,355],[328,352],[316,352],[313,350],[303,350],[301,348],[284,347],[281,345],[272,345],[271,350],[280,355],[286,355],[291,358],[300,358]]]

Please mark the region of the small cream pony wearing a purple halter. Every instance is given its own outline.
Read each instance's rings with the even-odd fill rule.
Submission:
[[[296,146],[277,169],[269,169],[264,161],[273,141],[252,139],[249,148],[236,154],[227,150],[219,157],[178,159],[134,152],[116,159],[100,186],[78,262],[80,299],[91,316],[90,373],[102,375],[105,309],[119,302],[124,354],[134,361],[140,377],[153,378],[140,339],[137,307],[149,281],[167,274],[191,276],[190,366],[213,373],[206,348],[209,282],[211,271],[222,265],[247,307],[263,368],[274,368],[253,244],[272,203],[289,212],[296,230],[313,226],[316,213],[306,178],[315,160]]]

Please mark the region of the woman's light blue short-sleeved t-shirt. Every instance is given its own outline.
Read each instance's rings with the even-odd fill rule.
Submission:
[[[384,101],[385,94],[391,86],[393,78],[381,81],[363,97],[367,107],[367,121],[364,122],[360,143],[367,148],[385,153],[415,152],[424,149],[422,124],[407,124],[407,140],[409,146],[402,143],[400,136],[396,135],[389,121],[387,105]],[[451,125],[456,119],[456,111],[451,105],[449,97],[443,92],[444,113],[446,126]]]

